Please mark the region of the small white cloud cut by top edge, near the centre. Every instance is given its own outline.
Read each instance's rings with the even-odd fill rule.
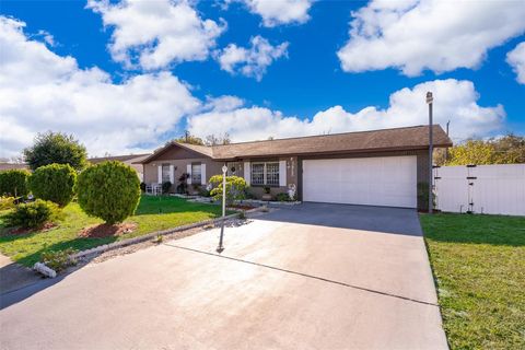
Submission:
[[[252,13],[262,18],[262,24],[268,27],[307,22],[313,2],[313,0],[226,0],[226,3],[233,1],[245,3]]]

